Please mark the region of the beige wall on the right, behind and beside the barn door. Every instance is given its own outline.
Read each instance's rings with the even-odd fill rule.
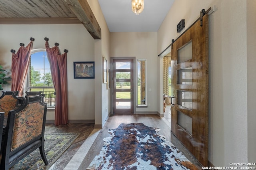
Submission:
[[[207,10],[213,5],[216,11],[209,16],[209,161],[214,166],[223,167],[229,166],[230,162],[248,162],[248,128],[255,130],[252,122],[247,126],[247,86],[250,81],[255,84],[255,79],[248,82],[254,72],[247,73],[246,1],[175,1],[158,30],[158,53],[180,35],[176,33],[176,25],[181,19],[185,19],[186,30],[199,18],[202,9]],[[255,11],[255,5],[251,8]],[[255,16],[255,12],[252,13]],[[255,19],[252,21],[255,23]],[[250,60],[255,63],[255,50],[250,52],[254,54]],[[255,87],[251,88],[255,90]],[[255,95],[249,98],[252,97],[255,101]],[[255,118],[255,110],[250,116]],[[255,138],[250,138],[255,151]]]

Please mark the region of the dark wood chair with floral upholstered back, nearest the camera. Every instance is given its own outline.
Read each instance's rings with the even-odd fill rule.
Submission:
[[[8,170],[37,148],[44,163],[48,164],[44,152],[47,103],[43,98],[43,95],[20,98],[24,100],[22,104],[9,111],[1,170]]]

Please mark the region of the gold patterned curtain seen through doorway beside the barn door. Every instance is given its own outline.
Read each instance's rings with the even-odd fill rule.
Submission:
[[[169,57],[164,56],[164,94],[169,95]],[[166,105],[169,103],[169,98],[165,99]]]

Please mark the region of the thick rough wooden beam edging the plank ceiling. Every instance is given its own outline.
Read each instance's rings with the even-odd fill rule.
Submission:
[[[94,39],[101,39],[101,28],[87,0],[63,0]]]

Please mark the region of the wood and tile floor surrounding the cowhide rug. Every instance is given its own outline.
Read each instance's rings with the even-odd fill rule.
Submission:
[[[196,159],[191,156],[191,154],[182,146],[180,141],[171,134],[171,119],[170,119],[170,106],[166,107],[166,112],[164,113],[164,117],[161,118],[158,115],[115,115],[110,116],[106,121],[104,127],[102,129],[94,129],[94,124],[68,124],[68,125],[60,125],[54,126],[54,124],[46,124],[45,133],[56,133],[56,132],[79,132],[80,136],[73,142],[73,144],[62,154],[62,156],[55,162],[55,164],[50,168],[50,170],[70,170],[70,169],[79,169],[85,170],[90,162],[94,159],[94,157],[100,152],[103,146],[103,138],[110,136],[107,132],[108,129],[117,128],[121,123],[144,123],[144,125],[148,127],[157,127],[160,128],[159,134],[166,136],[166,138],[171,141],[175,146],[177,146],[184,155],[195,165],[198,166],[198,169],[201,169],[200,164]],[[95,134],[91,134],[91,132],[95,132]],[[92,135],[92,137],[91,137]],[[88,141],[90,138],[90,141]],[[84,151],[83,145],[86,144],[86,151]],[[81,147],[81,148],[80,148]],[[79,150],[80,149],[80,150]],[[82,149],[82,150],[81,150]],[[86,152],[83,156],[75,155],[77,152]],[[74,168],[71,165],[67,168],[67,165],[72,158],[78,157],[80,159]],[[80,166],[79,166],[80,165]],[[79,167],[79,168],[78,168]]]

